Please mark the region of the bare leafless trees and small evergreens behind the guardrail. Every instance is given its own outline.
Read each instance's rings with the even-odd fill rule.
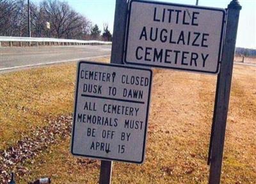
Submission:
[[[31,36],[111,41],[108,24],[102,35],[97,24],[73,10],[65,1],[29,3]],[[0,36],[29,36],[28,1],[0,0]]]

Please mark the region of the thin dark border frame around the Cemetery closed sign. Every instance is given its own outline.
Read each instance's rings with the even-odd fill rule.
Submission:
[[[132,160],[124,160],[124,159],[116,159],[116,158],[109,158],[109,157],[98,157],[98,156],[93,156],[93,155],[82,155],[79,153],[74,153],[74,135],[76,134],[75,132],[75,127],[76,127],[76,113],[77,113],[77,100],[78,100],[78,86],[79,86],[79,76],[80,76],[80,68],[82,64],[87,64],[87,65],[99,65],[99,66],[108,66],[108,67],[115,67],[115,68],[129,68],[132,70],[144,70],[147,72],[150,72],[149,75],[149,84],[148,84],[148,94],[147,94],[147,101],[145,101],[145,105],[147,105],[147,111],[145,114],[145,130],[143,131],[143,148],[142,148],[142,155],[141,155],[141,160],[140,162],[132,161]],[[107,64],[107,63],[93,63],[91,61],[79,61],[77,63],[77,81],[76,81],[76,92],[75,92],[75,103],[74,103],[74,114],[73,114],[73,125],[72,125],[72,141],[71,141],[71,153],[72,155],[75,156],[80,156],[80,157],[88,157],[88,158],[99,158],[100,160],[108,160],[108,161],[119,161],[119,162],[128,162],[128,163],[134,163],[134,164],[142,164],[143,161],[145,160],[145,146],[146,146],[146,141],[147,141],[147,128],[148,128],[148,114],[149,114],[149,107],[150,107],[150,95],[151,95],[151,88],[152,88],[152,70],[147,69],[147,68],[137,68],[134,66],[125,66],[125,65],[113,65],[113,64]],[[90,98],[90,97],[88,97]],[[105,97],[104,97],[105,98]],[[108,98],[108,97],[107,97]],[[111,100],[111,99],[109,99]],[[128,101],[133,101],[133,100],[116,100],[119,102],[128,102]]]

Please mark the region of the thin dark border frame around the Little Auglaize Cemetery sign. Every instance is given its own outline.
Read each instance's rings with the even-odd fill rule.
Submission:
[[[163,65],[151,65],[151,64],[143,64],[143,63],[137,63],[134,61],[127,61],[127,47],[128,47],[128,38],[129,38],[129,29],[130,29],[130,22],[131,22],[131,7],[132,3],[146,3],[146,4],[159,4],[164,6],[177,6],[182,8],[195,8],[199,10],[212,10],[212,11],[221,11],[223,13],[222,23],[221,23],[221,36],[220,36],[220,43],[219,43],[219,50],[218,50],[218,62],[216,71],[215,72],[209,72],[209,71],[202,71],[202,70],[193,70],[193,69],[185,69],[185,68],[176,68],[172,66],[163,66]],[[225,17],[226,17],[226,11],[225,9],[221,8],[211,8],[211,7],[203,7],[203,6],[193,6],[193,5],[186,5],[186,4],[175,4],[175,3],[166,3],[166,2],[156,2],[156,1],[140,1],[140,0],[131,0],[129,1],[129,13],[127,15],[127,28],[126,28],[126,34],[125,34],[125,50],[124,50],[124,63],[127,65],[138,65],[138,66],[150,66],[150,67],[156,67],[156,68],[166,68],[166,69],[173,69],[173,70],[182,70],[182,71],[189,71],[189,72],[199,72],[199,73],[210,73],[210,74],[217,74],[220,72],[220,63],[221,63],[221,54],[222,54],[222,47],[223,47],[223,38],[225,34]]]

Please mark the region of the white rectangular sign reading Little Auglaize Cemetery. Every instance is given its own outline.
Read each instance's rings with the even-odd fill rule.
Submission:
[[[132,0],[124,61],[218,73],[224,21],[224,9]]]

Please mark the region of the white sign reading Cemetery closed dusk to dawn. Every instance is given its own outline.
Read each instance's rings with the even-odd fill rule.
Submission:
[[[86,61],[77,68],[72,154],[141,164],[152,71]]]

